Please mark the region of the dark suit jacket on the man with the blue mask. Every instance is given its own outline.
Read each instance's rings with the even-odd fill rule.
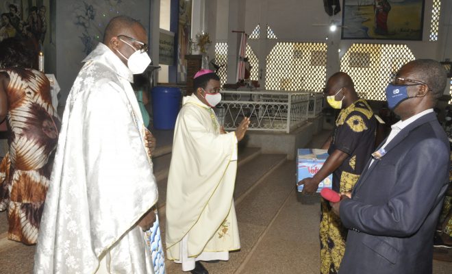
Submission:
[[[340,204],[349,228],[340,273],[431,273],[434,229],[449,182],[449,141],[429,113],[385,150],[364,170],[352,199]]]

